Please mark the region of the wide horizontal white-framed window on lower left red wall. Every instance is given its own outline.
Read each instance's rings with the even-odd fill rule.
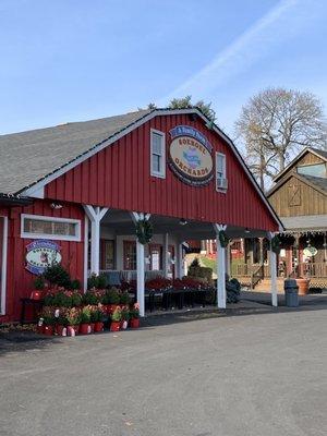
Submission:
[[[21,235],[29,239],[81,241],[81,221],[22,214]]]

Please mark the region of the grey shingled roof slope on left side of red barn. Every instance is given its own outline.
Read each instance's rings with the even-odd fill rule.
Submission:
[[[0,136],[0,193],[17,193],[152,110]]]

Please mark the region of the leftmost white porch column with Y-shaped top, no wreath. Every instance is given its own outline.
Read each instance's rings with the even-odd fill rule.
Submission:
[[[98,276],[100,271],[100,222],[108,207],[84,205],[84,210],[90,220],[90,272]]]

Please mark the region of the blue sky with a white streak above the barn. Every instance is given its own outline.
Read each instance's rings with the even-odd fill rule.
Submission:
[[[0,0],[0,133],[191,94],[230,135],[267,86],[327,111],[325,0]]]

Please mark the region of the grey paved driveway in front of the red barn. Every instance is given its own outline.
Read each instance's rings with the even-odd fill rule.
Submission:
[[[5,348],[0,435],[327,434],[327,310]]]

